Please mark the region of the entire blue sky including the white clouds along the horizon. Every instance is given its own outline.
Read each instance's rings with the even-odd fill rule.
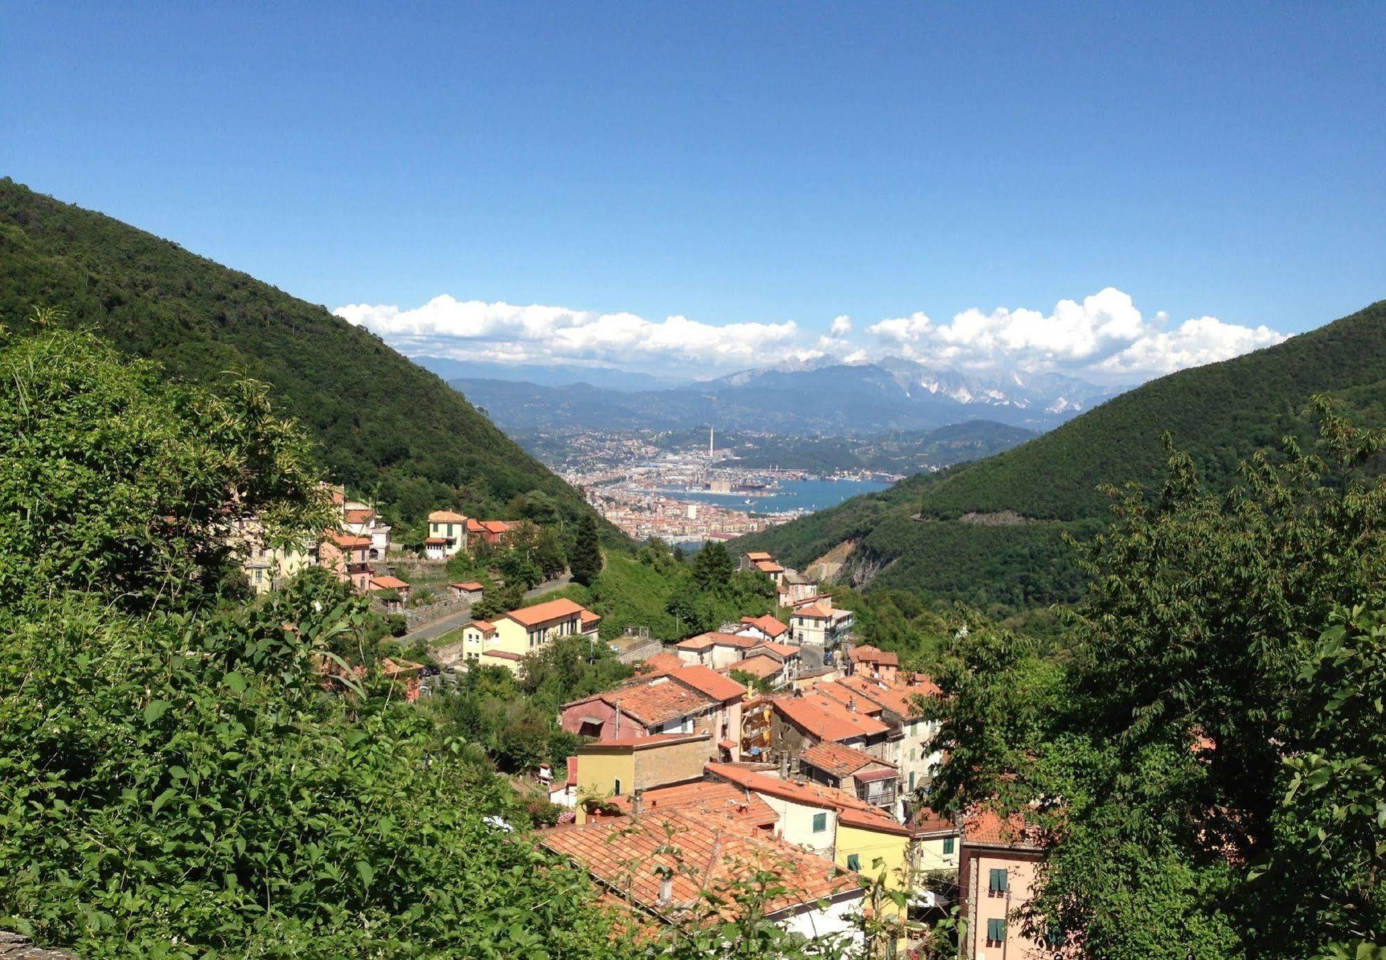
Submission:
[[[1386,4],[1127,7],[11,3],[0,173],[416,353],[1130,377],[1386,296]]]

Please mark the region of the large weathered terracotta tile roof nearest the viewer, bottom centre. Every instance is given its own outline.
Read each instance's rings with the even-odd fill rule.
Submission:
[[[768,914],[814,909],[839,894],[862,895],[852,874],[823,857],[735,820],[708,828],[693,812],[602,817],[539,831],[536,839],[632,903],[664,916],[700,910],[705,894],[718,896],[723,916],[736,916],[732,885],[754,881],[761,871],[773,871],[789,888],[764,905]],[[664,877],[668,899],[660,896]]]

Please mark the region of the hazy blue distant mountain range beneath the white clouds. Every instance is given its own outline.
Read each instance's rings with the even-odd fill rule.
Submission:
[[[1042,431],[1121,389],[1062,374],[960,371],[902,357],[765,367],[664,389],[632,389],[622,378],[604,377],[600,386],[493,377],[449,382],[509,431],[712,425],[834,436],[936,429],[967,420]]]

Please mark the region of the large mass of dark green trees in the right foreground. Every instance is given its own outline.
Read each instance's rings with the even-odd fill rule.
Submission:
[[[1125,490],[1085,550],[1066,669],[979,630],[936,673],[937,802],[1049,831],[1031,932],[1107,956],[1386,941],[1386,673],[1364,612],[1386,582],[1386,485],[1360,477],[1386,435],[1319,416],[1321,457],[1257,454],[1228,495],[1182,453],[1159,495]]]

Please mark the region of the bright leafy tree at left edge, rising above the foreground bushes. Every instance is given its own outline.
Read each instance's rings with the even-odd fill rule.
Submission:
[[[0,596],[126,605],[226,586],[231,521],[286,542],[327,522],[309,447],[263,386],[169,385],[87,334],[0,349]]]

